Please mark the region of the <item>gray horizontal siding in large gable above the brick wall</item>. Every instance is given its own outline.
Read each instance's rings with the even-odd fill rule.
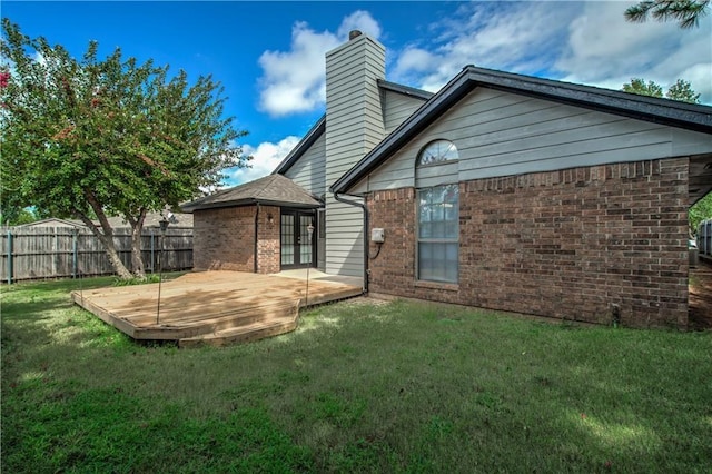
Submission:
[[[414,186],[417,154],[439,138],[457,147],[459,181],[712,151],[704,134],[479,88],[352,192]]]

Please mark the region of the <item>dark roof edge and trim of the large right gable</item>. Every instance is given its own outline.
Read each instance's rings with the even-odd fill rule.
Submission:
[[[712,107],[467,66],[329,188],[346,192],[477,87],[712,134]]]

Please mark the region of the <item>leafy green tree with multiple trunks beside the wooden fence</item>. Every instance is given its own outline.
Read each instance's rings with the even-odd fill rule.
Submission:
[[[7,18],[0,52],[2,208],[34,206],[81,219],[121,278],[144,277],[140,235],[148,211],[215,187],[222,169],[247,166],[224,118],[222,88],[210,77],[139,65],[121,50],[105,59],[90,42],[81,59]],[[131,271],[113,245],[108,216],[131,227]],[[96,218],[99,224],[92,221]]]

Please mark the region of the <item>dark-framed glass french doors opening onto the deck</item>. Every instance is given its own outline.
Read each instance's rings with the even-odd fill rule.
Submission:
[[[316,267],[316,223],[313,210],[281,210],[281,269]],[[309,238],[309,225],[313,235]]]

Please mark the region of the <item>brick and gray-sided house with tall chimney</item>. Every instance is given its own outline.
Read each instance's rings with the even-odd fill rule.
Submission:
[[[247,184],[185,208],[197,269],[310,265],[372,294],[686,326],[712,108],[474,66],[431,95],[384,58],[359,32],[326,55],[326,115],[269,177],[312,201],[227,197]]]

